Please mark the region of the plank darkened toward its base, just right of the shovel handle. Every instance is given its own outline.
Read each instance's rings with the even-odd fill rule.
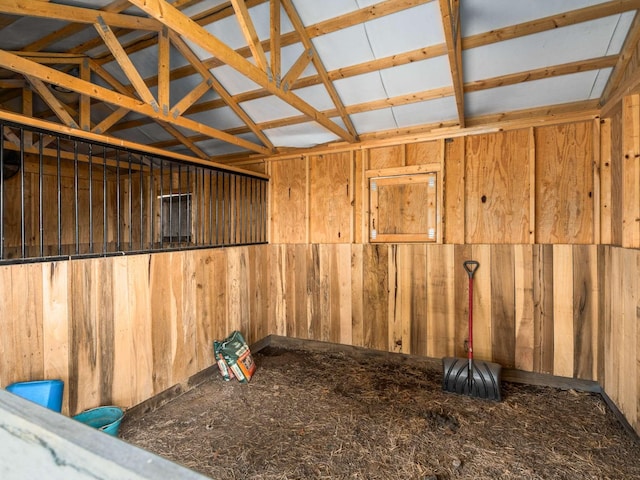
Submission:
[[[491,338],[493,361],[515,367],[515,259],[513,245],[491,246]]]

